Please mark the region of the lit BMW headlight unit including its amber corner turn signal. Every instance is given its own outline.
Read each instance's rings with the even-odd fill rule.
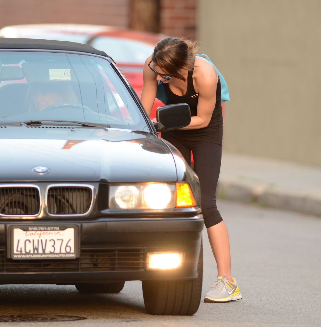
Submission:
[[[111,184],[110,209],[168,209],[194,207],[195,200],[188,183]]]

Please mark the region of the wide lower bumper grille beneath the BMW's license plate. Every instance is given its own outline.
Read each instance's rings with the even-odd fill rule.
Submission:
[[[138,271],[144,269],[144,249],[81,249],[80,258],[12,260],[0,250],[0,272]]]

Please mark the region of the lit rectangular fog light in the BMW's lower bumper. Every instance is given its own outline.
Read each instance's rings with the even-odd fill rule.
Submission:
[[[147,269],[174,269],[183,264],[181,252],[149,252],[147,253]]]

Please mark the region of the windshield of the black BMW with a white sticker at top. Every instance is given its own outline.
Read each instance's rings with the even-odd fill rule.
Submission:
[[[0,123],[71,120],[149,131],[108,60],[51,52],[0,52]]]

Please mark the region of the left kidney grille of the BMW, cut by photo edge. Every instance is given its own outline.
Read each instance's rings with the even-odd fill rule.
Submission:
[[[1,215],[37,215],[40,195],[36,187],[0,187]]]

